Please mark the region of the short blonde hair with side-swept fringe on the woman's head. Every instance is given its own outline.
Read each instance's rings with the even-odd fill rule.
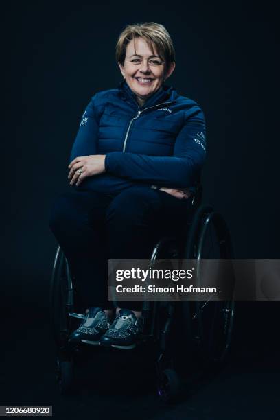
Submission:
[[[154,47],[162,60],[165,60],[167,68],[175,61],[175,50],[170,34],[160,23],[145,22],[127,25],[119,35],[116,45],[116,60],[124,65],[126,58],[126,45],[135,38],[144,38],[154,54]]]

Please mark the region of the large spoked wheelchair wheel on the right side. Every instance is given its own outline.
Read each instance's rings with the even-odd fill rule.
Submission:
[[[231,238],[224,219],[209,206],[200,207],[194,216],[185,248],[186,259],[196,259],[200,275],[200,260],[233,258]],[[207,362],[223,362],[229,352],[233,331],[235,305],[234,272],[226,272],[230,299],[226,301],[188,301],[183,312],[191,328],[191,340]]]

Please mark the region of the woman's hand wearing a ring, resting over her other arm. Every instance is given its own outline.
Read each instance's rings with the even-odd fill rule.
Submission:
[[[102,174],[105,172],[105,154],[93,154],[90,156],[79,156],[69,165],[70,185],[80,185],[84,178]]]

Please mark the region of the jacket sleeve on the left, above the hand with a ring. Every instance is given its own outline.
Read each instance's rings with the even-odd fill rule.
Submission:
[[[72,146],[70,161],[77,156],[89,156],[89,154],[97,154],[98,140],[98,120],[96,97],[91,98],[91,102],[86,106],[86,110],[80,121],[80,128]]]

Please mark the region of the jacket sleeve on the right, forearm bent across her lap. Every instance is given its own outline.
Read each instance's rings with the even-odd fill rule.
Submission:
[[[106,154],[106,171],[143,183],[161,187],[184,188],[194,185],[205,161],[205,117],[196,113],[185,119],[176,137],[173,156],[147,156],[129,152]]]

